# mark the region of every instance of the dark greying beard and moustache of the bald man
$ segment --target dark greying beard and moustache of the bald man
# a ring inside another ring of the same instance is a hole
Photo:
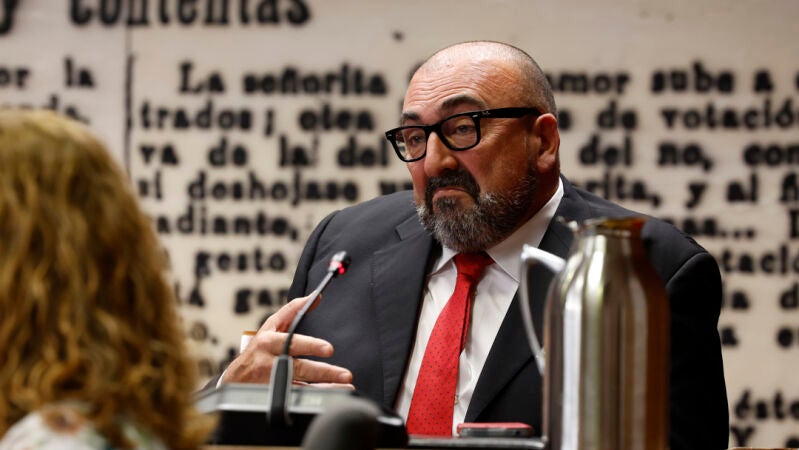
[[[424,204],[417,204],[416,212],[422,225],[443,245],[461,253],[484,251],[505,240],[527,218],[535,184],[535,166],[530,164],[511,191],[481,193],[472,175],[460,168],[430,178]],[[474,199],[474,206],[463,209],[457,199],[441,198],[433,212],[433,194],[447,186],[464,189]]]

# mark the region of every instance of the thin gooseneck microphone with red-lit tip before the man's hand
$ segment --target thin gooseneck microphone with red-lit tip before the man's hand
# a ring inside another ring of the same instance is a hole
[[[294,320],[291,321],[283,352],[277,357],[275,364],[272,366],[272,389],[270,390],[269,414],[267,418],[273,426],[291,426],[288,404],[294,378],[294,365],[292,364],[293,358],[289,356],[289,348],[291,347],[291,339],[294,337],[294,332],[305,317],[305,314],[319,301],[322,291],[325,290],[333,278],[343,275],[349,266],[350,257],[347,252],[340,251],[333,255],[330,259],[330,264],[328,264],[325,277],[316,286],[316,289],[311,291],[311,299],[303,305],[302,309],[294,316]]]

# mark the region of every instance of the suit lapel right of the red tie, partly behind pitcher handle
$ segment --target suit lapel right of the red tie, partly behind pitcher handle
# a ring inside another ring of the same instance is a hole
[[[582,220],[587,211],[581,205],[579,197],[573,195],[573,190],[566,180],[564,183],[564,196],[555,213],[555,217]],[[566,258],[573,241],[573,234],[569,228],[553,219],[541,240],[539,248],[554,255]],[[552,281],[553,274],[546,269],[532,266],[528,271],[530,280],[530,301],[533,313],[533,322],[538,334],[539,342],[542,341],[544,306]],[[493,401],[505,386],[513,381],[519,371],[527,364],[534,364],[532,351],[524,334],[524,328],[519,309],[519,296],[514,296],[513,302],[508,309],[505,319],[500,326],[499,332],[491,351],[488,354],[483,371],[477,381],[472,401],[466,413],[466,421],[475,421],[480,413]],[[541,385],[540,374],[537,370],[535,379],[528,380],[529,383]],[[531,408],[540,408],[541,405],[530,405]]]

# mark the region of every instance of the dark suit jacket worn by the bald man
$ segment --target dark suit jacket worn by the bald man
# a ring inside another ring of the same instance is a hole
[[[631,214],[563,182],[556,215],[584,220]],[[647,221],[642,237],[670,298],[671,448],[727,448],[718,266],[690,237],[665,222]],[[553,221],[540,247],[566,257],[572,239],[567,227]],[[393,408],[414,342],[427,266],[440,246],[420,225],[409,191],[335,212],[310,236],[289,298],[310,292],[340,250],[352,257],[349,272],[327,288],[299,332],[330,341],[335,355],[326,361],[350,369],[359,391]],[[536,277],[531,306],[541,330],[551,275],[542,271]],[[518,297],[480,374],[466,421],[521,421],[540,433],[541,377],[516,302]]]

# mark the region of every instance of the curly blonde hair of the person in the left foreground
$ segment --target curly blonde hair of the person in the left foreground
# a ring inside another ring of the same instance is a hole
[[[193,406],[166,257],[127,176],[81,124],[0,111],[0,436],[47,404],[88,405],[128,447],[120,419],[170,448],[212,426]]]

